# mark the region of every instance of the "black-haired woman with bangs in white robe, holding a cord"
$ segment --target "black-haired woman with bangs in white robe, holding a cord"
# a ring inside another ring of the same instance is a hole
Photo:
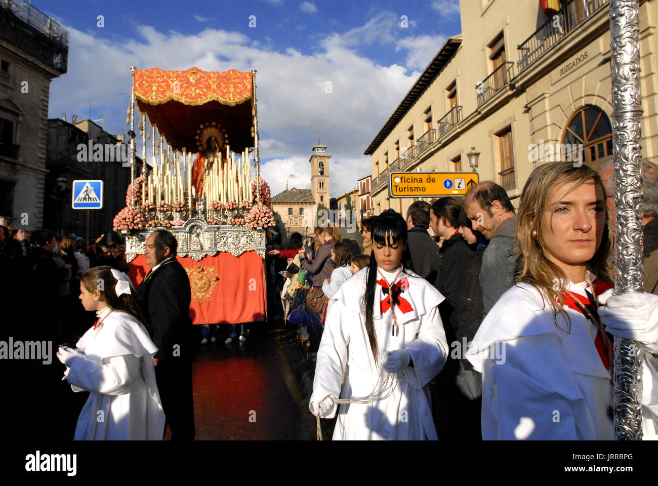
[[[333,418],[342,403],[334,440],[436,439],[427,384],[448,352],[443,296],[413,272],[401,215],[384,211],[372,241],[367,269],[332,298],[309,407]]]

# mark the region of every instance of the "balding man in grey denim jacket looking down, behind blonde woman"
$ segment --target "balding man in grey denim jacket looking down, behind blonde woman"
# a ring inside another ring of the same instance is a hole
[[[493,304],[514,284],[517,255],[517,214],[507,192],[487,180],[468,192],[464,204],[473,230],[490,240],[482,255],[480,286],[482,286],[483,317]]]

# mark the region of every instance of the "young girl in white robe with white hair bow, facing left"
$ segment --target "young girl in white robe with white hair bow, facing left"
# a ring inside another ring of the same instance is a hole
[[[57,353],[73,391],[89,392],[75,440],[162,440],[164,412],[153,367],[157,348],[128,277],[94,267],[84,273],[80,292],[85,310],[96,311],[98,320],[76,349],[60,346]]]

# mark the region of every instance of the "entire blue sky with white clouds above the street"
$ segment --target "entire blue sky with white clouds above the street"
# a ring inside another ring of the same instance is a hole
[[[131,65],[255,68],[261,173],[272,194],[286,180],[310,187],[319,136],[332,154],[331,196],[340,196],[370,172],[363,151],[445,38],[461,31],[458,0],[418,4],[34,0],[71,30],[68,72],[51,84],[49,117],[87,118],[84,103],[95,101],[92,119],[102,114],[105,129],[120,133],[126,104],[118,93],[130,93]]]

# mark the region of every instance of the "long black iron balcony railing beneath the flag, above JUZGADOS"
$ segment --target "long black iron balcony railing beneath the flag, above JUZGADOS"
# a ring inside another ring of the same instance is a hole
[[[556,14],[557,18],[555,16],[549,18],[532,36],[517,46],[519,74],[608,3],[609,0],[572,0],[567,3]]]

